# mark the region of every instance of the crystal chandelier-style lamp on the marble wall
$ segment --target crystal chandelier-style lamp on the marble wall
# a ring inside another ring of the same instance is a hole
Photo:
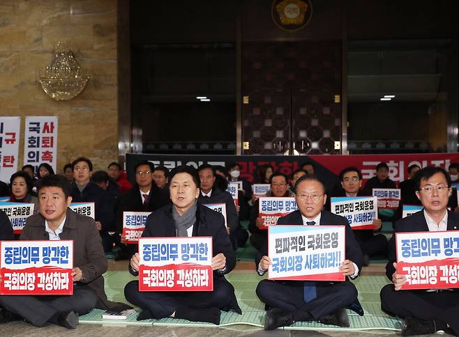
[[[51,64],[40,72],[40,84],[45,93],[53,100],[71,100],[83,91],[88,79],[70,47],[56,42]]]

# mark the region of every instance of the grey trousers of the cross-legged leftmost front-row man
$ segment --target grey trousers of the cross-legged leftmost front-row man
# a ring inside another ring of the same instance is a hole
[[[75,311],[80,315],[89,313],[96,307],[96,301],[96,292],[80,283],[73,286],[73,295],[0,296],[0,306],[37,327],[43,327],[59,312]]]

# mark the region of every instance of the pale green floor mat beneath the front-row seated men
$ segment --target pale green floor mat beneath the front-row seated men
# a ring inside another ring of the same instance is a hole
[[[107,296],[112,301],[123,301],[124,286],[129,281],[136,278],[131,276],[127,271],[112,271],[105,273],[105,291]],[[222,311],[220,326],[227,326],[233,324],[248,324],[255,327],[264,326],[264,304],[259,301],[255,294],[257,283],[262,279],[252,272],[234,271],[227,275],[228,281],[234,285],[236,297],[239,301],[239,306],[243,312],[239,315],[234,312]],[[379,300],[379,290],[388,283],[385,276],[360,276],[354,281],[357,289],[359,290],[359,300],[365,310],[364,316],[359,316],[353,311],[347,311],[349,315],[349,328],[340,328],[330,325],[324,325],[318,322],[296,322],[291,327],[284,329],[297,329],[297,330],[339,330],[339,331],[356,331],[356,330],[372,330],[372,329],[386,329],[399,331],[401,329],[401,320],[391,318],[381,311],[381,303]],[[137,309],[139,311],[139,309]],[[218,327],[217,325],[205,322],[190,322],[187,320],[179,320],[175,318],[163,318],[162,320],[143,320],[137,321],[137,315],[131,315],[126,320],[103,320],[103,310],[95,309],[87,315],[80,317],[80,323],[93,323],[93,324],[142,324],[153,326],[181,326],[181,327]]]

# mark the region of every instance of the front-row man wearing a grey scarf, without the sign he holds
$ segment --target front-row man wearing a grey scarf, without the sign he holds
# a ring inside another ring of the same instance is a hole
[[[234,288],[225,279],[236,258],[221,214],[197,203],[200,180],[191,166],[178,166],[170,175],[171,205],[149,215],[142,237],[212,237],[213,291],[211,292],[139,292],[139,281],[126,285],[124,294],[130,303],[143,309],[138,319],[183,318],[220,324],[220,309],[241,313]],[[185,222],[183,222],[185,221]],[[130,259],[130,272],[138,274],[139,253]]]

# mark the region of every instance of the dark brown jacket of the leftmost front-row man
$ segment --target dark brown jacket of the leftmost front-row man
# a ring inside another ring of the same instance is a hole
[[[84,281],[96,292],[96,308],[110,309],[118,304],[108,301],[104,290],[103,273],[107,271],[107,258],[95,221],[90,217],[67,209],[61,240],[73,240],[73,267],[82,269]],[[27,218],[20,240],[50,240],[45,230],[45,218],[40,213]]]

